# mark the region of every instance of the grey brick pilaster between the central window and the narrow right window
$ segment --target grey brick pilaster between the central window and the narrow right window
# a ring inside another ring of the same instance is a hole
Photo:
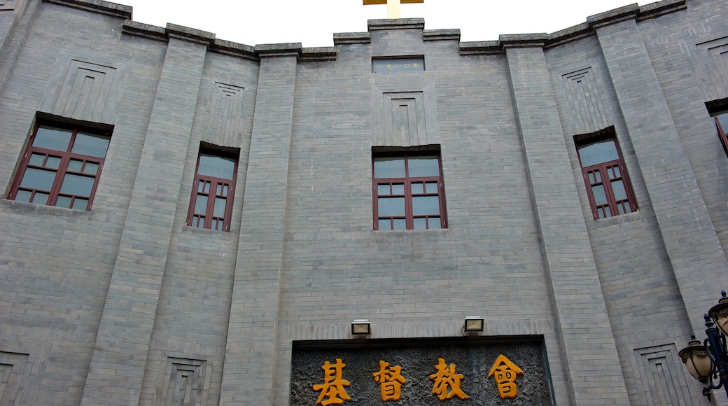
[[[574,405],[629,405],[542,47],[502,36]],[[596,376],[598,375],[598,378]]]

